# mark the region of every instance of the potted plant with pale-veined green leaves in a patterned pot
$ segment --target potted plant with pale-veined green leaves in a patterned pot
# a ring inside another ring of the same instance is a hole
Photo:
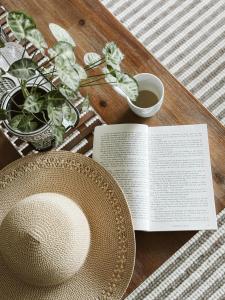
[[[10,76],[17,81],[16,88],[2,99],[0,118],[8,130],[36,149],[49,147],[53,140],[59,145],[65,131],[76,126],[79,120],[76,102],[82,101],[82,111],[89,105],[89,97],[81,96],[80,88],[111,84],[135,101],[137,83],[121,71],[124,55],[114,42],[106,43],[101,55],[86,53],[84,66],[81,66],[76,61],[74,40],[59,25],[49,24],[56,43],[48,48],[34,20],[25,13],[9,12],[7,22],[17,40],[25,46],[20,59],[9,64],[7,70],[0,69],[0,79]],[[27,42],[36,47],[32,56],[26,52]],[[37,64],[37,51],[48,57],[47,64]],[[100,71],[96,74],[96,70]],[[57,86],[51,83],[53,77],[59,78]]]

